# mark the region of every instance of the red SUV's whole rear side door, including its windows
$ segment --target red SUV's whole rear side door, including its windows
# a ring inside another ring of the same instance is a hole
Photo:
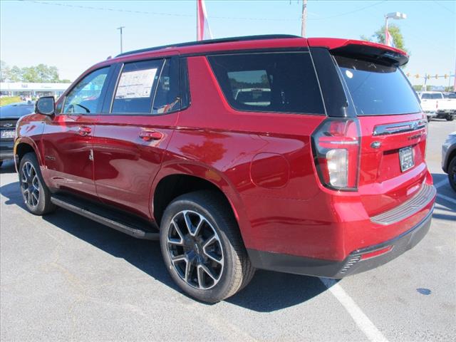
[[[179,58],[120,64],[93,140],[95,185],[107,204],[150,215],[150,189],[180,110]]]

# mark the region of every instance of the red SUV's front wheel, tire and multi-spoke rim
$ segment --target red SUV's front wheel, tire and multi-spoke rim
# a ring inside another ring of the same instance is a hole
[[[19,164],[19,187],[29,212],[35,215],[49,214],[56,210],[51,202],[51,192],[41,176],[41,170],[33,152],[22,157]]]

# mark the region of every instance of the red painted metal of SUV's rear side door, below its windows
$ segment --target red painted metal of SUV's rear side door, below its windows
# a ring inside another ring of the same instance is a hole
[[[103,202],[150,217],[150,185],[160,170],[178,116],[99,116],[93,159],[96,192]],[[143,140],[140,135],[145,132],[161,133],[162,138]]]

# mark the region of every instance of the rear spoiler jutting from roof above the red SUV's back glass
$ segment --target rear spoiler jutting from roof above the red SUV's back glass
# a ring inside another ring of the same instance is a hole
[[[403,66],[408,62],[405,51],[370,41],[356,41],[338,38],[309,38],[309,46],[324,47],[336,56],[366,59],[392,66]]]

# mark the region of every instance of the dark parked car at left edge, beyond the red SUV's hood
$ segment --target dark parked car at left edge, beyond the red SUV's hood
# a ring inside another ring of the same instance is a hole
[[[12,103],[0,107],[0,166],[4,160],[13,159],[14,132],[16,122],[24,115],[33,113],[35,103]]]

